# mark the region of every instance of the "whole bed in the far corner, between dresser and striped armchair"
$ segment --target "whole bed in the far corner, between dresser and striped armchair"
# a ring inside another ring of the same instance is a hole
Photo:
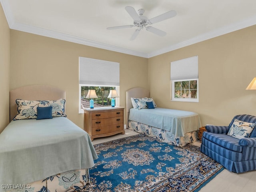
[[[179,147],[198,140],[201,121],[197,113],[159,107],[138,109],[131,102],[132,98],[145,100],[149,97],[149,90],[145,88],[136,87],[126,91],[128,129]]]

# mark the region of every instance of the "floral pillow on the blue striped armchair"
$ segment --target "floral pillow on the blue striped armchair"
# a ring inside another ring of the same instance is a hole
[[[255,123],[243,122],[235,118],[228,135],[238,139],[248,138],[255,125]]]

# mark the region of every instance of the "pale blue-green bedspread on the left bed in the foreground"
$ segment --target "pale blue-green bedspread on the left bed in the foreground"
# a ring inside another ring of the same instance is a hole
[[[0,134],[0,184],[92,168],[97,158],[89,135],[66,117],[12,121]]]

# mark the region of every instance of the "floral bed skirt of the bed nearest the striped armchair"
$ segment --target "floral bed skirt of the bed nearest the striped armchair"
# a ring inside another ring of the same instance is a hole
[[[188,132],[185,133],[184,137],[178,137],[166,130],[162,130],[131,120],[128,121],[128,129],[145,134],[146,136],[157,138],[162,142],[169,143],[178,147],[185,146],[186,144],[193,143],[198,140],[198,131]]]

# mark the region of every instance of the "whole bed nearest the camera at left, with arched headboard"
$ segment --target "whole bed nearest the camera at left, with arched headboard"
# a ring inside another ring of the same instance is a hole
[[[0,134],[0,192],[72,192],[90,182],[97,155],[89,135],[66,118],[65,98],[54,86],[10,90],[10,124]],[[48,106],[47,116],[37,106]]]

